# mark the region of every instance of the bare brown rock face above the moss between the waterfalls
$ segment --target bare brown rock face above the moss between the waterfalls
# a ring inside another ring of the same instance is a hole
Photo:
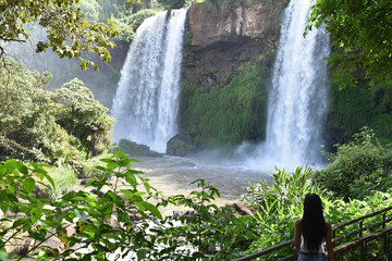
[[[233,1],[234,2],[234,1]],[[183,80],[208,90],[224,86],[241,64],[275,52],[289,0],[193,4],[188,10]]]

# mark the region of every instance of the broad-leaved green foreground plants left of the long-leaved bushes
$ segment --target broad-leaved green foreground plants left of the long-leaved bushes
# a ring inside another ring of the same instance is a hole
[[[7,231],[0,232],[1,254],[12,259],[108,260],[115,252],[123,258],[136,254],[137,260],[229,260],[257,237],[252,233],[255,224],[250,216],[233,219],[230,209],[211,203],[219,197],[219,190],[203,179],[194,182],[199,189],[189,197],[177,195],[161,200],[163,206],[171,202],[194,212],[163,220],[157,206],[146,201],[159,194],[139,175],[142,172],[131,169],[135,160],[118,151],[102,161],[106,166],[98,167],[101,172],[86,184],[86,189],[91,187],[96,194],[102,192],[101,197],[69,191],[57,201],[36,198],[33,194],[37,183],[57,186],[46,165],[27,165],[15,160],[0,164],[0,186],[7,187],[0,191],[0,209],[13,213],[1,220],[2,224],[9,224]],[[140,217],[134,221],[130,215]],[[76,232],[68,232],[70,226]],[[17,256],[7,250],[11,243],[23,237],[36,240],[26,253]],[[45,246],[51,238],[61,240],[61,252]],[[216,247],[215,251],[211,246]],[[81,249],[89,250],[82,254]]]

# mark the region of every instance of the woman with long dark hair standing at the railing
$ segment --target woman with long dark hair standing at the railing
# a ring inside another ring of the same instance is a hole
[[[331,224],[322,214],[320,197],[308,194],[304,201],[304,215],[295,222],[294,250],[299,250],[298,261],[327,261],[323,241],[329,260],[334,261],[331,231]]]

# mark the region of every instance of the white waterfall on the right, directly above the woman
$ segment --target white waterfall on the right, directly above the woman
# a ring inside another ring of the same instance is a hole
[[[284,13],[269,94],[266,141],[250,162],[259,167],[291,171],[298,165],[321,164],[321,132],[329,97],[323,59],[329,57],[330,42],[321,28],[303,36],[313,2],[292,0]]]

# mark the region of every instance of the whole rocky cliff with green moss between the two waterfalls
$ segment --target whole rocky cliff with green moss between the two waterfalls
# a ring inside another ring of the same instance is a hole
[[[168,148],[186,154],[264,139],[267,90],[289,1],[208,0],[189,8],[181,133]]]

